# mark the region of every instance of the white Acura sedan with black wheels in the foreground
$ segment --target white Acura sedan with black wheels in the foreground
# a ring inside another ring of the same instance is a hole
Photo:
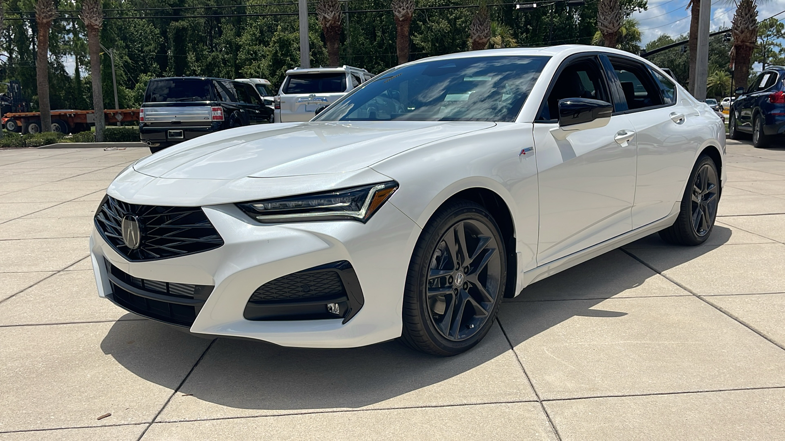
[[[139,160],[90,250],[101,297],[192,333],[455,355],[531,282],[704,242],[724,166],[720,118],[630,53],[456,53]]]

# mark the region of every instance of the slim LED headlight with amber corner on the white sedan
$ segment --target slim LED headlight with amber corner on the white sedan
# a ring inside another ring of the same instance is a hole
[[[368,219],[398,188],[395,181],[362,187],[238,203],[240,210],[264,224]]]

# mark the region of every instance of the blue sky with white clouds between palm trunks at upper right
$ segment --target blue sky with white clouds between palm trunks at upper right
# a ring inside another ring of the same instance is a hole
[[[641,29],[643,44],[654,40],[660,35],[667,34],[671,37],[689,31],[689,11],[686,9],[688,0],[648,0],[648,10],[633,13],[633,18],[638,20]],[[730,27],[736,6],[732,0],[713,0],[711,6],[711,31],[723,27]],[[758,20],[764,20],[785,10],[785,0],[771,0],[758,2]],[[785,13],[777,16],[785,19]]]

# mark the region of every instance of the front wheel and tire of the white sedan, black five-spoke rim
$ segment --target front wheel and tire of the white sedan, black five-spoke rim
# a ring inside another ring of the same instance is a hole
[[[409,264],[403,343],[441,356],[473,348],[493,326],[506,270],[504,240],[491,213],[465,200],[438,210]]]

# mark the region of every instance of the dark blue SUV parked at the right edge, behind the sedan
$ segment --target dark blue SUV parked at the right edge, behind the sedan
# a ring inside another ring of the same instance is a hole
[[[769,145],[772,137],[785,132],[785,67],[771,66],[755,78],[747,91],[736,89],[739,97],[731,104],[728,137],[737,140],[752,133],[757,148]]]

